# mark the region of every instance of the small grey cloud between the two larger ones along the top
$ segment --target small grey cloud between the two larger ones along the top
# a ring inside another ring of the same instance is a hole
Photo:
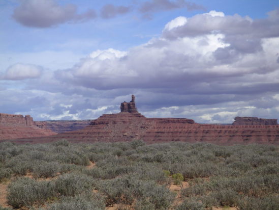
[[[131,11],[130,7],[125,6],[114,6],[111,4],[105,5],[101,10],[101,17],[108,19],[113,18],[117,15],[126,14]]]

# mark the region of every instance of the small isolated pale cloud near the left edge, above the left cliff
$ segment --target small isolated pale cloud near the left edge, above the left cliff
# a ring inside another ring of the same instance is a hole
[[[3,80],[25,80],[28,78],[38,78],[42,74],[40,66],[30,64],[15,64],[10,66],[4,76]]]

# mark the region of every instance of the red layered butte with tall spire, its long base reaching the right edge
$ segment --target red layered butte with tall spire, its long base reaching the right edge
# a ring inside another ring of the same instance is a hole
[[[146,118],[141,115],[132,97],[123,102],[120,113],[104,114],[83,129],[33,139],[36,142],[67,139],[72,142],[131,141],[148,143],[184,141],[216,144],[279,143],[279,125],[200,124],[185,118]]]

